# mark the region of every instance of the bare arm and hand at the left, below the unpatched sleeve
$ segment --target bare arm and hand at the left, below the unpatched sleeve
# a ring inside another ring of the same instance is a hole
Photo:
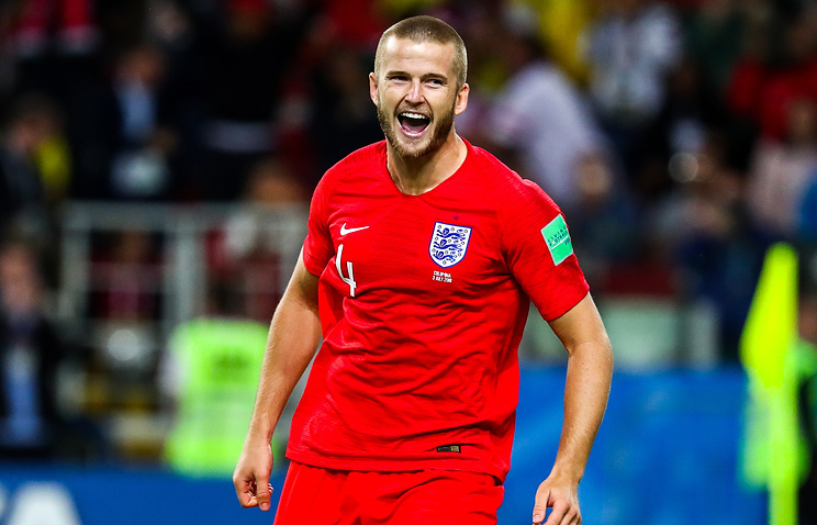
[[[272,315],[253,417],[233,473],[235,491],[244,507],[258,506],[262,511],[270,507],[272,431],[321,340],[317,281],[306,270],[301,254]]]

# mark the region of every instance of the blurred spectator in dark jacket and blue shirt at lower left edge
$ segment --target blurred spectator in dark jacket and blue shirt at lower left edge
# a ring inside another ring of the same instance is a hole
[[[55,458],[66,438],[57,373],[66,346],[45,316],[41,260],[32,245],[0,247],[0,458]]]

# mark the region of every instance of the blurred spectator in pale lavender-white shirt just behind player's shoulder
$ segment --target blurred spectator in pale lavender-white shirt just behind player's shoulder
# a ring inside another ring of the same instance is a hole
[[[580,167],[609,164],[604,135],[581,92],[547,58],[535,13],[516,7],[506,16],[499,42],[511,78],[493,104],[485,133],[499,156],[523,177],[566,212],[579,211]]]

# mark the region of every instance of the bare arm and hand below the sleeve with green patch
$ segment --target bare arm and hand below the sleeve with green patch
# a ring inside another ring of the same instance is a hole
[[[613,349],[590,293],[567,313],[549,322],[568,350],[564,421],[553,468],[536,492],[534,523],[578,525],[579,481],[604,417],[613,376]]]

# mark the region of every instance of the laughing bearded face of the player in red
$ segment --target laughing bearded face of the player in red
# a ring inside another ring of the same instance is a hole
[[[468,85],[458,90],[451,70],[454,45],[396,37],[383,45],[381,70],[369,75],[380,127],[398,155],[424,157],[443,146],[468,103]]]

